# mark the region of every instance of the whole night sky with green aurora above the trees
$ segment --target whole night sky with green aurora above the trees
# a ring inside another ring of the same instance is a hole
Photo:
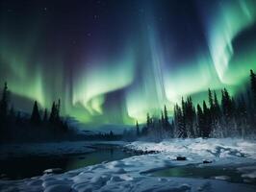
[[[86,123],[134,124],[256,69],[255,0],[1,0],[0,84]]]

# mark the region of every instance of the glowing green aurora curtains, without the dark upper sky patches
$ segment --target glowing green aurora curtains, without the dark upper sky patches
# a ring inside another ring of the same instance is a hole
[[[115,56],[95,48],[97,51],[83,57],[83,49],[79,49],[79,60],[69,60],[77,55],[65,48],[53,47],[54,52],[47,52],[59,41],[42,43],[47,23],[40,17],[29,22],[37,24],[25,26],[26,30],[17,34],[15,27],[21,24],[13,27],[9,20],[15,18],[2,13],[0,83],[7,81],[14,95],[37,100],[41,108],[50,108],[61,98],[63,114],[85,123],[134,124],[135,120],[144,122],[147,112],[158,114],[164,105],[171,114],[182,96],[193,95],[198,102],[208,87],[227,87],[235,94],[249,69],[256,69],[256,36],[247,36],[256,25],[255,1],[219,1],[204,6],[200,15],[207,46],[195,48],[192,56],[178,61],[175,43],[166,46],[158,24],[151,19],[152,10],[136,22],[140,26],[137,31],[127,32],[132,35],[124,36],[127,39]],[[240,43],[244,36],[246,40]]]

